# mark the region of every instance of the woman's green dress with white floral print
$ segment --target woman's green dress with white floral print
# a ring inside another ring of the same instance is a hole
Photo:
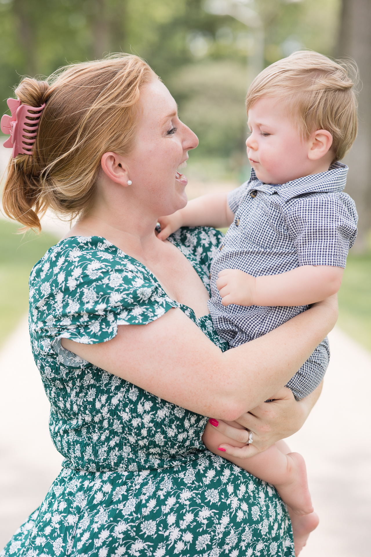
[[[207,288],[220,238],[211,228],[170,237]],[[66,460],[0,555],[293,557],[285,505],[272,486],[205,449],[205,416],[61,346],[61,338],[101,343],[117,325],[150,323],[180,307],[225,350],[210,316],[196,319],[144,265],[101,237],[50,248],[29,286],[33,354],[51,403],[51,436]]]

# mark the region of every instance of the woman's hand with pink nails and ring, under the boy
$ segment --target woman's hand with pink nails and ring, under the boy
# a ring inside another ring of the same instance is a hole
[[[268,449],[279,439],[290,437],[299,431],[318,400],[321,390],[322,383],[308,397],[297,402],[291,390],[284,387],[276,393],[271,402],[259,404],[235,422],[211,418],[202,440],[212,452],[228,460],[229,457],[234,459],[254,456]],[[253,443],[250,445],[246,444],[249,441],[247,430],[253,433]],[[218,437],[214,432],[218,433]]]

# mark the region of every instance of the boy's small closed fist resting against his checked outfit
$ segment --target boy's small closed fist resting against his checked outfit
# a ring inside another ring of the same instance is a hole
[[[239,269],[224,269],[217,276],[216,287],[222,297],[222,305],[254,305],[255,278]]]

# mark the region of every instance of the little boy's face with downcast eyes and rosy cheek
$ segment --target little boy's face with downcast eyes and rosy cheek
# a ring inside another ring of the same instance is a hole
[[[309,142],[301,138],[282,99],[262,97],[248,116],[247,153],[261,182],[285,184],[318,172],[308,157]]]

